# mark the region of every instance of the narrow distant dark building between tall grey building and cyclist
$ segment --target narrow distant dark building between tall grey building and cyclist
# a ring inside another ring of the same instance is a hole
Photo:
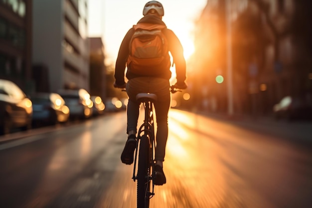
[[[106,98],[105,53],[101,37],[89,37],[90,41],[90,94]]]

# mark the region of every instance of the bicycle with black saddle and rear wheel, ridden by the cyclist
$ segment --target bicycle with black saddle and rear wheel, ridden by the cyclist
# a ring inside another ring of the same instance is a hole
[[[178,92],[170,87],[171,93]],[[137,182],[137,208],[149,208],[150,199],[155,196],[154,192],[154,161],[155,161],[155,128],[154,128],[154,102],[156,94],[139,93],[136,99],[143,103],[145,118],[138,131],[137,147],[135,152],[133,177]],[[139,153],[139,154],[138,154]],[[138,161],[138,167],[137,167]]]

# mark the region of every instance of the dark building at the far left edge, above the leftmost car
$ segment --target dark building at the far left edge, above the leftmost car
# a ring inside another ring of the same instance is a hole
[[[33,91],[31,70],[32,0],[0,0],[0,78]]]

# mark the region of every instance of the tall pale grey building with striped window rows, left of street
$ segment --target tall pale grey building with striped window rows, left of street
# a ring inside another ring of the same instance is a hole
[[[89,90],[88,0],[33,0],[32,10],[32,62],[49,82],[36,90]]]

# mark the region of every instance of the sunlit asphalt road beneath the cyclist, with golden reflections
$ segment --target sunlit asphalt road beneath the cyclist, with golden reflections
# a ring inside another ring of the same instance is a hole
[[[168,123],[167,184],[151,208],[311,208],[310,124],[173,109]],[[0,207],[135,208],[125,129],[119,112],[0,137]]]

